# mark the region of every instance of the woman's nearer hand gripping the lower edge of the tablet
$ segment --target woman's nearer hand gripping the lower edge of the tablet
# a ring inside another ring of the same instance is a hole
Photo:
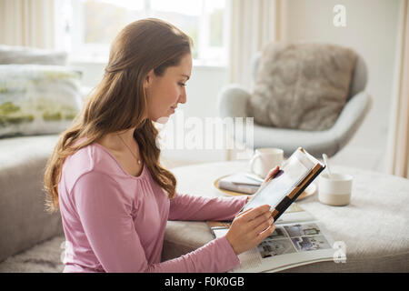
[[[235,216],[225,236],[236,255],[258,246],[265,237],[273,234],[275,226],[271,214],[270,206],[264,205]]]

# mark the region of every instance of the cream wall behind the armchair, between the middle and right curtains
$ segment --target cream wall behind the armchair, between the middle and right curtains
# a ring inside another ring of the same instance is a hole
[[[346,26],[333,25],[344,5]],[[373,107],[334,161],[381,170],[389,122],[400,0],[285,0],[282,35],[288,41],[328,42],[353,48],[368,66],[366,90]]]

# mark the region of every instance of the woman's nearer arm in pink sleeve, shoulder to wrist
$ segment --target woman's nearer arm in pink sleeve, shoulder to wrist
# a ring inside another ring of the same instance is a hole
[[[106,272],[225,272],[240,263],[224,236],[185,256],[149,265],[130,202],[113,178],[87,173],[78,179],[72,195],[86,239]]]

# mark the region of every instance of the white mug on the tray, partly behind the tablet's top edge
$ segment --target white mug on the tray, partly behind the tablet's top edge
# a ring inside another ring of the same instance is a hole
[[[281,166],[284,160],[284,151],[281,148],[257,148],[250,160],[250,171],[255,175],[265,178],[275,166]]]

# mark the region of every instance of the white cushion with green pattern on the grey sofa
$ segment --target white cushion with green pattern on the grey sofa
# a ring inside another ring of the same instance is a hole
[[[0,137],[58,134],[82,106],[80,73],[58,65],[0,65]]]

